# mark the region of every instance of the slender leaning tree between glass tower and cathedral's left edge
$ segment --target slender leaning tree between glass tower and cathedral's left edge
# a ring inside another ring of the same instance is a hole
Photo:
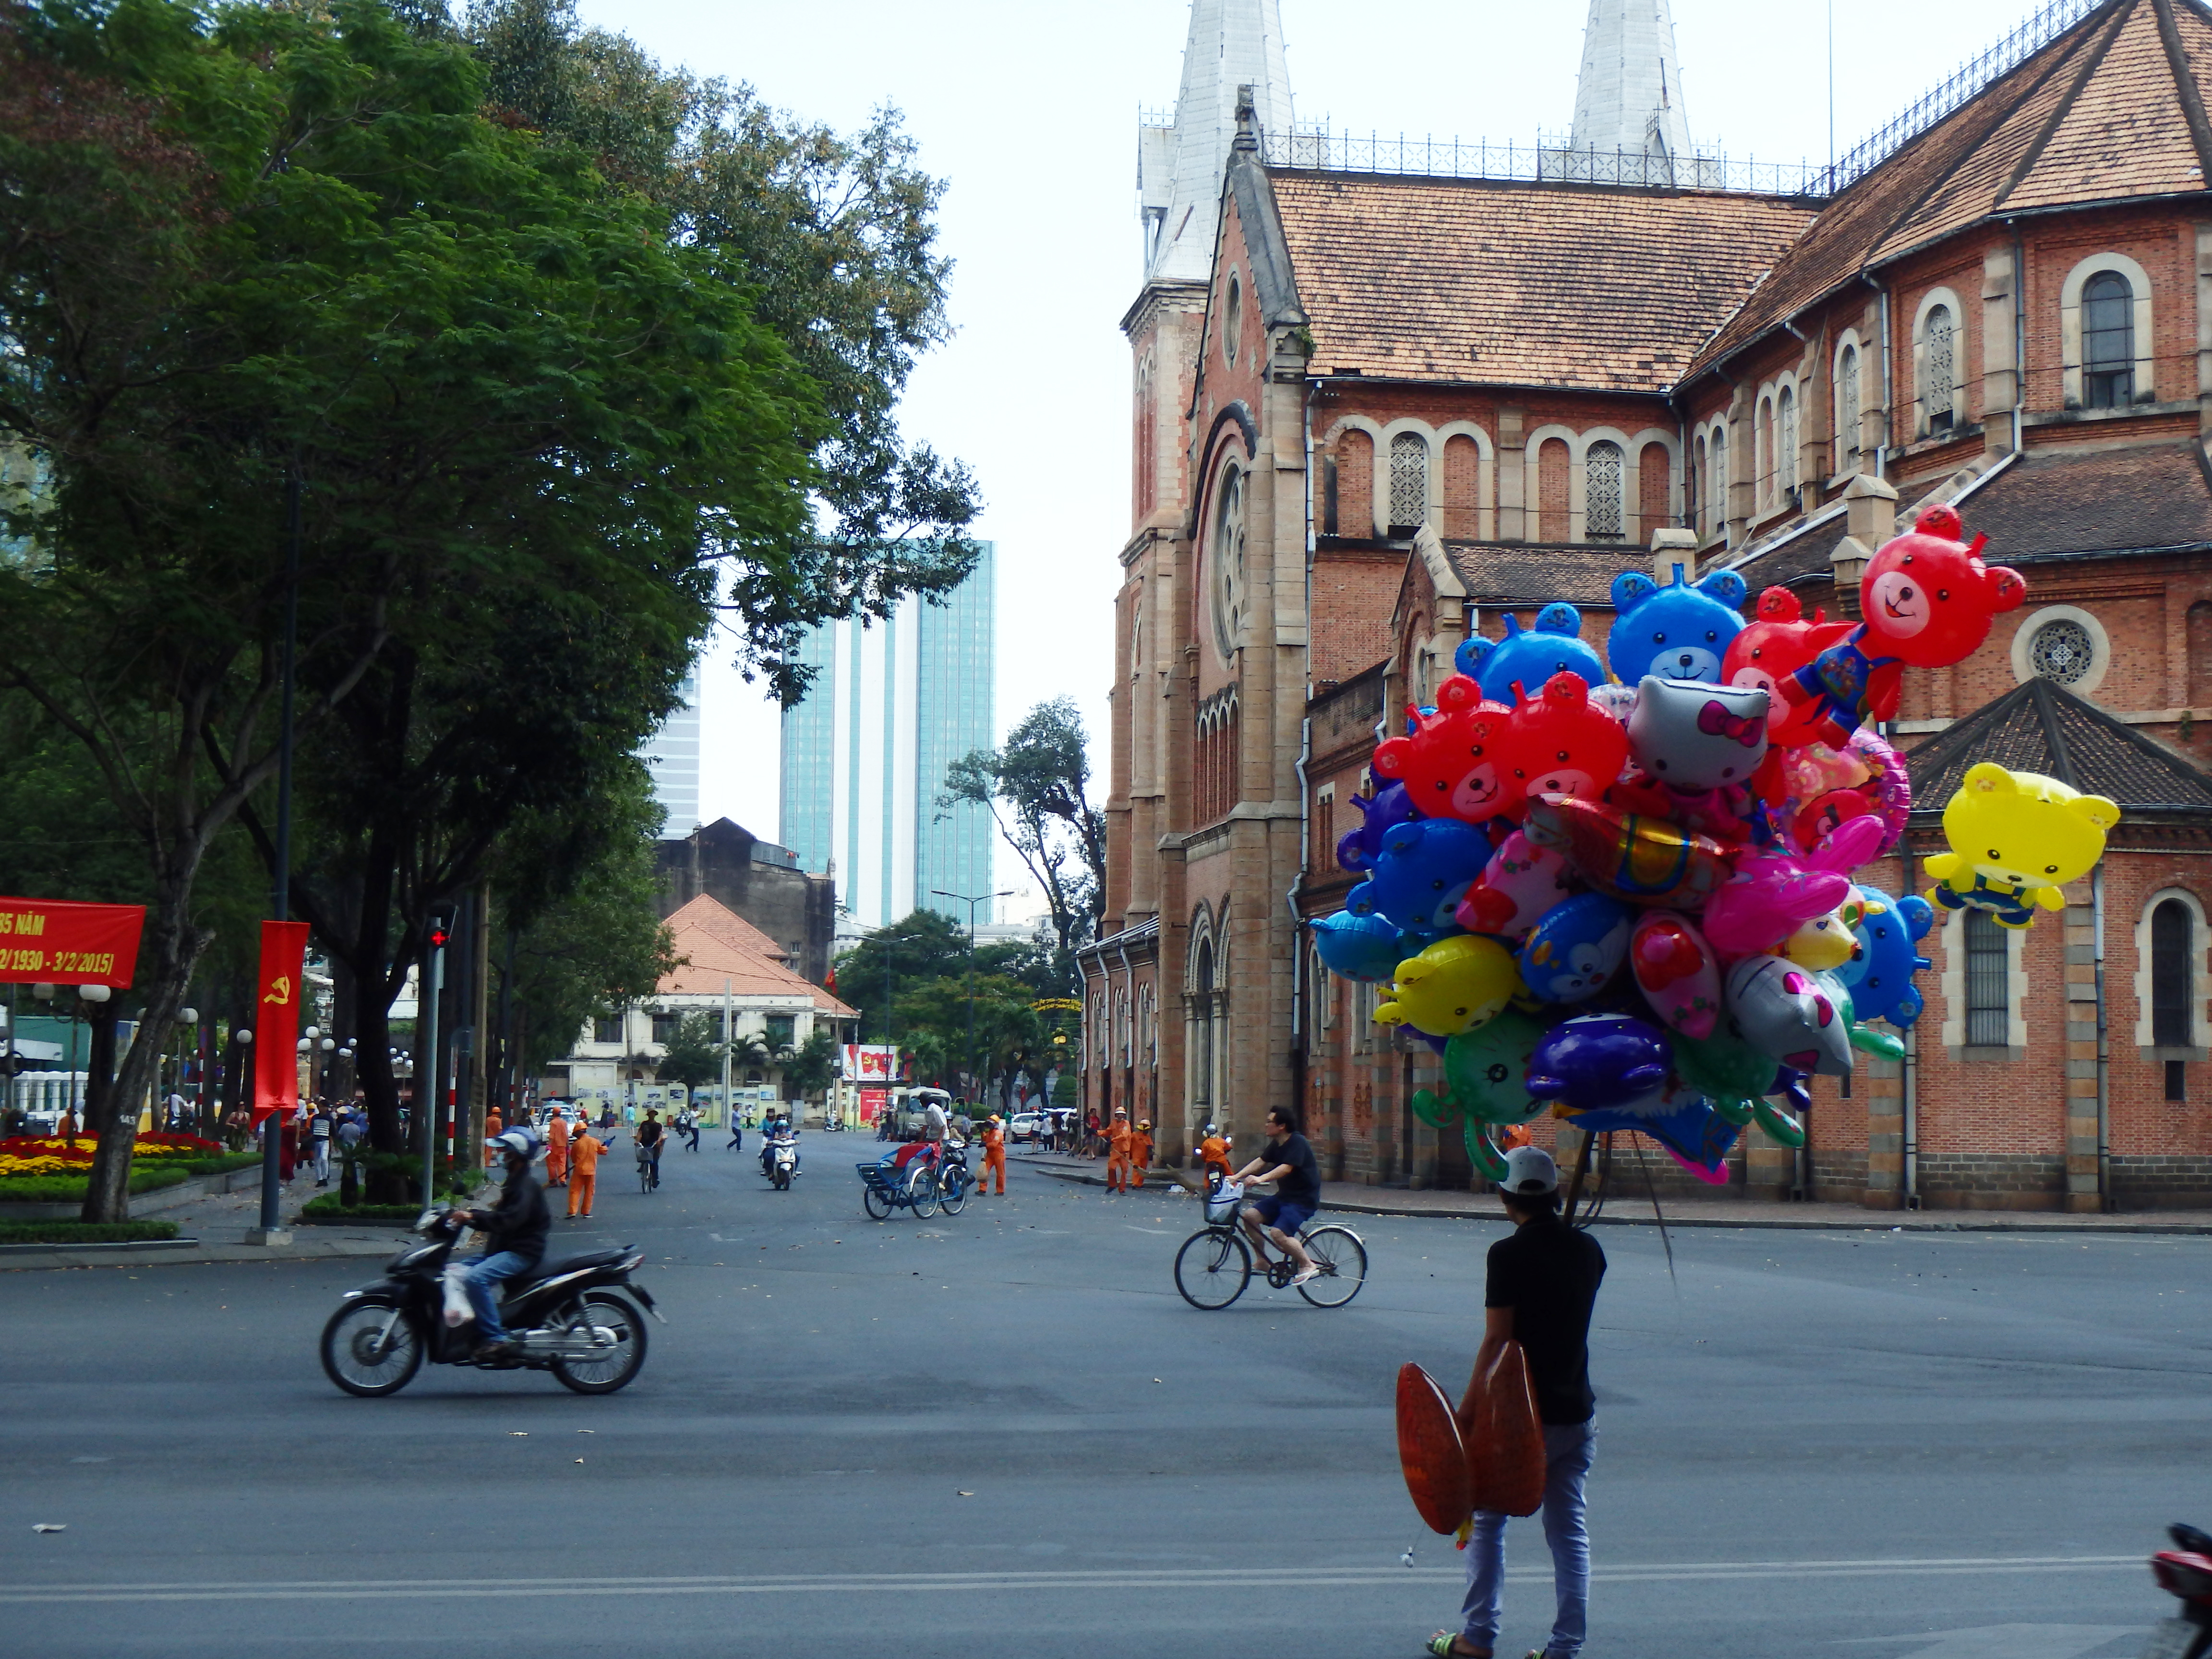
[[[1075,982],[1075,951],[1106,914],[1106,814],[1091,805],[1091,739],[1073,697],[1037,703],[1002,750],[945,768],[938,807],[991,810],[1000,836],[1044,889],[1057,936],[1055,995]]]

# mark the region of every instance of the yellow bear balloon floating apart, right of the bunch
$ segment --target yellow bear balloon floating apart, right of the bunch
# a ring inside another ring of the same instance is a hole
[[[2035,905],[2064,909],[2059,887],[2104,858],[2104,836],[2115,823],[2119,807],[2101,794],[1982,761],[1942,810],[1951,852],[1929,858],[1938,878],[1929,902],[1986,909],[2000,927],[2028,927]]]

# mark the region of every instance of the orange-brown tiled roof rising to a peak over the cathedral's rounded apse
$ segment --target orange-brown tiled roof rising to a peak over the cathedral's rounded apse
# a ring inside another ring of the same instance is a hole
[[[2197,0],[2108,0],[1829,201],[1692,372],[1978,219],[2203,190],[2208,88],[2212,18]]]

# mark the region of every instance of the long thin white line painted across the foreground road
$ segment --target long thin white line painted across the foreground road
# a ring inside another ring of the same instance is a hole
[[[1869,1559],[1869,1562],[1648,1562],[1595,1566],[1599,1584],[1712,1584],[1728,1579],[1843,1579],[1843,1577],[1944,1577],[1984,1573],[2139,1573],[2135,1555],[1991,1555],[1947,1559]],[[1433,1584],[1464,1577],[1460,1566],[1254,1566],[1254,1568],[1164,1568],[1146,1571],[1152,1590],[1237,1590],[1252,1586],[1371,1586]],[[1548,1584],[1551,1568],[1509,1571],[1509,1579]],[[0,1606],[40,1601],[307,1601],[330,1595],[422,1601],[460,1597],[524,1595],[911,1595],[918,1590],[1095,1590],[1126,1584],[1126,1571],[1113,1573],[812,1573],[772,1577],[588,1577],[588,1579],[285,1579],[272,1584],[9,1584],[0,1586]],[[1896,1637],[1909,1641],[1911,1637]]]

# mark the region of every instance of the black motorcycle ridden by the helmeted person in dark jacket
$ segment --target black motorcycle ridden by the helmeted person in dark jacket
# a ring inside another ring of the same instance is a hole
[[[465,1228],[440,1206],[425,1210],[414,1230],[425,1243],[396,1254],[374,1285],[345,1292],[323,1325],[323,1374],[347,1394],[398,1394],[425,1358],[480,1371],[553,1371],[577,1394],[613,1394],[646,1363],[646,1321],[630,1298],[668,1323],[653,1292],[630,1283],[646,1261],[641,1250],[586,1250],[500,1285],[500,1323],[513,1352],[478,1360],[476,1318],[451,1259]]]

